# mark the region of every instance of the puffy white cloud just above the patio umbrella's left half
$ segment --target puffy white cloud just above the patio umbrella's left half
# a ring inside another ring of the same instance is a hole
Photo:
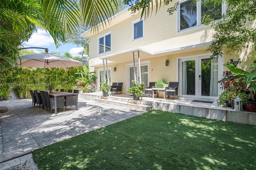
[[[28,42],[24,42],[26,46],[33,47],[44,47],[54,44],[54,40],[50,34],[47,34],[46,31],[38,29],[36,33],[34,33]]]

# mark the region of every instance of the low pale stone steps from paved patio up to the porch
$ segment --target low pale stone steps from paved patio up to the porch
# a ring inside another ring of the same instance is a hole
[[[133,99],[122,97],[122,99],[117,99],[118,97],[106,97],[104,98],[93,98],[96,102],[102,102],[107,103],[109,105],[116,105],[116,106],[122,106],[127,107],[131,109],[136,110],[142,110],[142,111],[152,111],[153,106],[152,105],[145,105],[143,101],[134,101]]]

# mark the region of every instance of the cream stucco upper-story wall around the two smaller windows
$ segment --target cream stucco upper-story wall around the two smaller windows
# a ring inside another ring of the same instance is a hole
[[[173,3],[174,2],[172,2],[170,6],[172,6]],[[127,15],[130,15],[130,12],[127,12]],[[136,47],[141,47],[152,53],[185,47],[188,45],[210,42],[212,35],[210,26],[200,26],[187,31],[177,32],[176,12],[174,12],[173,15],[169,15],[167,7],[165,7],[158,10],[156,15],[152,14],[152,16],[145,20],[144,38],[132,41],[132,22],[139,19],[140,14],[130,16],[119,24],[89,37],[90,59]],[[115,20],[115,18],[113,18],[113,20]],[[109,33],[111,33],[111,51],[98,55],[98,38]],[[99,61],[91,61],[91,64],[94,65],[96,62]]]

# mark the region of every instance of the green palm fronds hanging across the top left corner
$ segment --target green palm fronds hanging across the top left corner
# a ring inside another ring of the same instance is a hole
[[[65,32],[110,22],[116,0],[0,0],[0,61],[13,62],[19,46],[37,29],[50,33],[56,47],[65,42]]]

